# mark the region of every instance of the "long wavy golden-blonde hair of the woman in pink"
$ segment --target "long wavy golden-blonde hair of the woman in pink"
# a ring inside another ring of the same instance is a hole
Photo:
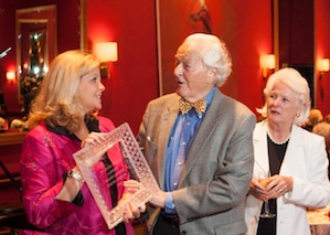
[[[32,102],[29,128],[44,120],[46,125],[78,130],[84,118],[76,99],[81,78],[99,66],[99,61],[82,51],[67,51],[57,55],[41,83],[38,96]]]

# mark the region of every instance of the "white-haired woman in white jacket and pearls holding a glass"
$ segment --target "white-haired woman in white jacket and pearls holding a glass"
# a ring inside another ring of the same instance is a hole
[[[324,139],[300,127],[309,115],[306,79],[294,68],[273,74],[264,89],[266,119],[254,130],[254,179],[246,197],[248,234],[310,234],[306,210],[323,207],[330,200]],[[256,180],[270,172],[265,188]],[[259,217],[269,200],[270,218]]]

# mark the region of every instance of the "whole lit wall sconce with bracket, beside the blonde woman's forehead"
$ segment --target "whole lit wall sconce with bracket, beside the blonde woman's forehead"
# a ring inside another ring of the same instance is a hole
[[[118,61],[117,42],[100,42],[95,44],[95,54],[100,61],[100,77],[110,77],[109,62]]]

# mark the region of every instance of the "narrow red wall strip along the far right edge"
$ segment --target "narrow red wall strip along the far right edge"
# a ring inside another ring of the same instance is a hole
[[[315,1],[316,9],[316,63],[320,58],[330,57],[330,1]],[[323,116],[330,114],[330,72],[323,74],[319,79],[319,71],[316,68],[317,107]]]

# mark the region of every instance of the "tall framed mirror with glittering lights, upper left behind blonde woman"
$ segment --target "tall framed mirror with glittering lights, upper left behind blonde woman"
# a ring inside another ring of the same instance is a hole
[[[19,9],[17,23],[17,67],[19,100],[38,88],[56,50],[56,6]]]

